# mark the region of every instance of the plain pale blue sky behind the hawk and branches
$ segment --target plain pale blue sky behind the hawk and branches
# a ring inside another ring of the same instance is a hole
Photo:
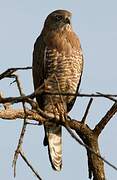
[[[85,59],[80,92],[117,94],[117,1],[116,0],[0,0],[0,73],[10,67],[31,66],[35,39],[40,34],[46,16],[55,9],[72,12],[74,31],[79,35]],[[32,75],[19,72],[26,94],[33,91]],[[6,96],[18,92],[12,80],[0,82],[0,90]],[[88,98],[78,98],[70,113],[81,119]],[[106,113],[112,102],[104,98],[94,100],[87,123],[94,127]],[[0,179],[13,180],[11,167],[22,122],[0,121]],[[99,138],[101,154],[117,166],[117,116],[108,123]],[[44,180],[80,179],[88,180],[87,156],[63,130],[63,170],[51,169],[47,149],[43,147],[43,127],[28,126],[23,150]],[[105,165],[106,178],[114,180],[117,172]],[[21,158],[17,161],[16,180],[35,180]]]

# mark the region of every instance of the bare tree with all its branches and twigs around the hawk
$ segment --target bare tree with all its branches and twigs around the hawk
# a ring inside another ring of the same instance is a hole
[[[88,168],[89,168],[89,178],[93,178],[93,180],[105,180],[105,172],[104,172],[104,162],[107,163],[109,166],[114,168],[117,171],[117,167],[115,167],[113,164],[111,164],[109,161],[104,159],[99,150],[99,144],[98,144],[98,137],[100,133],[103,131],[103,129],[106,127],[107,123],[110,121],[110,119],[115,115],[117,112],[117,94],[102,94],[102,93],[94,93],[94,94],[75,94],[75,93],[63,93],[59,89],[58,92],[49,92],[45,90],[45,84],[43,84],[41,87],[37,88],[35,92],[24,95],[20,81],[18,80],[18,76],[16,76],[14,73],[18,70],[28,70],[31,69],[31,67],[23,67],[23,68],[10,68],[0,74],[0,80],[4,78],[15,78],[15,81],[17,83],[17,87],[19,89],[20,96],[19,97],[6,97],[4,98],[0,94],[0,103],[3,105],[5,109],[0,110],[0,118],[2,119],[8,119],[8,120],[16,120],[17,118],[20,118],[24,120],[23,128],[21,131],[21,135],[19,138],[18,146],[15,151],[14,155],[14,175],[16,175],[16,162],[18,155],[20,154],[23,160],[26,162],[26,164],[31,168],[31,170],[35,173],[38,179],[41,179],[38,173],[34,170],[32,165],[29,163],[27,158],[25,157],[24,153],[22,152],[22,143],[24,134],[26,131],[26,126],[28,124],[32,125],[40,125],[40,124],[46,124],[52,121],[53,123],[58,123],[59,125],[64,126],[67,131],[70,133],[70,135],[83,147],[86,148],[87,151],[87,157],[88,157]],[[57,79],[56,79],[57,80]],[[59,84],[58,84],[59,87]],[[42,111],[38,104],[33,100],[36,96],[40,96],[41,94],[48,94],[48,95],[60,95],[61,103],[63,101],[62,96],[79,96],[79,97],[91,97],[90,101],[87,105],[87,108],[85,110],[85,113],[83,115],[83,118],[81,121],[76,120],[69,120],[67,114],[65,117],[60,118],[54,116],[54,113],[47,114],[46,112]],[[99,123],[95,126],[95,128],[92,130],[88,125],[86,124],[86,118],[89,113],[89,109],[92,104],[92,97],[104,97],[108,98],[109,100],[114,101],[114,104],[112,107],[107,111],[105,116],[99,121]],[[13,109],[14,103],[22,102],[22,109]],[[30,105],[30,108],[26,108],[26,103]],[[28,120],[35,120],[38,123],[30,123]],[[76,133],[75,133],[75,132]],[[78,136],[82,139],[80,140]]]

